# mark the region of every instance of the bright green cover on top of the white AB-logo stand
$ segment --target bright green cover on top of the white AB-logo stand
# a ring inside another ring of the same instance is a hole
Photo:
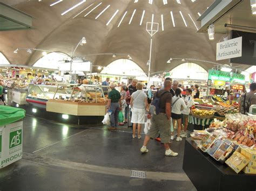
[[[25,110],[0,105],[0,126],[19,121],[25,117]]]

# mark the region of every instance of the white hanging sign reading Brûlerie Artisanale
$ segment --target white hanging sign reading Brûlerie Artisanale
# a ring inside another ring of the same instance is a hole
[[[216,60],[237,58],[242,56],[242,37],[217,43]]]

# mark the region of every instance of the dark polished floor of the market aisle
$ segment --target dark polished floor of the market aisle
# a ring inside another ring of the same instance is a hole
[[[124,126],[78,128],[26,116],[23,159],[0,169],[0,190],[196,190],[182,169],[185,140],[171,144],[178,157],[165,157],[156,140],[141,154],[143,138],[132,139]]]

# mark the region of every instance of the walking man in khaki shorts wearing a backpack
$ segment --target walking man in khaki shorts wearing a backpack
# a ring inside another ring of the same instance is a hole
[[[161,142],[164,143],[165,146],[165,155],[176,157],[178,153],[173,152],[170,149],[170,122],[171,122],[171,103],[172,103],[172,94],[169,93],[172,87],[172,83],[170,80],[165,80],[164,82],[164,90],[159,90],[156,97],[159,97],[159,109],[160,113],[158,115],[147,115],[148,118],[151,118],[151,127],[147,132],[142,148],[140,148],[140,152],[146,153],[149,152],[147,149],[147,144],[149,143],[151,138],[155,138],[160,131]],[[166,93],[167,91],[167,93]]]

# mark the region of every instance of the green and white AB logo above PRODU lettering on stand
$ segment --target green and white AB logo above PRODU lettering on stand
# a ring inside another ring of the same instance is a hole
[[[13,128],[10,130],[10,151],[9,153],[14,153],[22,149],[22,129],[21,126]]]

